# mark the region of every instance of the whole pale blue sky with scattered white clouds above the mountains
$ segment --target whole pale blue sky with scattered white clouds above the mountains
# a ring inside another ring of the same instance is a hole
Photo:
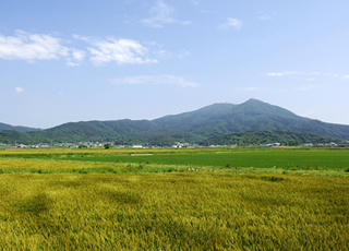
[[[256,98],[349,124],[349,1],[1,0],[0,122],[155,119]]]

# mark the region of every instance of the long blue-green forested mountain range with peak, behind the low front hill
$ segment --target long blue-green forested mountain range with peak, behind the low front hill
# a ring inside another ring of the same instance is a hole
[[[155,120],[70,122],[51,129],[13,134],[0,131],[0,142],[116,141],[118,144],[200,143],[216,136],[246,131],[284,131],[349,139],[349,125],[303,118],[278,106],[256,99],[240,105],[214,104],[195,111]],[[17,138],[17,139],[14,139]]]

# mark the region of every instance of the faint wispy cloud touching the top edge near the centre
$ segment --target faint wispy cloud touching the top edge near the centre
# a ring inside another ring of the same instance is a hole
[[[149,19],[142,20],[142,23],[149,27],[163,27],[164,24],[180,23],[188,25],[190,21],[178,21],[174,19],[174,8],[158,0],[149,11]]]

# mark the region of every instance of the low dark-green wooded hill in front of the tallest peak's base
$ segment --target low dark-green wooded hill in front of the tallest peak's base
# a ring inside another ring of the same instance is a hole
[[[248,131],[231,133],[224,136],[215,136],[204,141],[204,145],[245,145],[245,144],[269,144],[281,143],[285,145],[297,145],[305,143],[329,143],[340,142],[341,139],[321,136],[311,133],[294,133],[282,131]]]

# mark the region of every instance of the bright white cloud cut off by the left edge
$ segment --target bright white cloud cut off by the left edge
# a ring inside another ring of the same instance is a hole
[[[0,35],[0,58],[27,61],[51,60],[69,57],[69,48],[59,38],[45,34],[29,34],[16,31],[15,36]]]

